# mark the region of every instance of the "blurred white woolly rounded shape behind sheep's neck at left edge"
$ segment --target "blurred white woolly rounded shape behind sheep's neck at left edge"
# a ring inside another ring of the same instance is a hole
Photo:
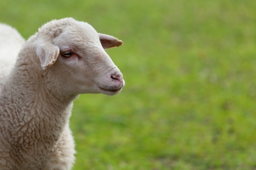
[[[8,76],[8,73],[11,71],[12,66],[15,63],[16,56],[25,43],[24,38],[18,33],[16,29],[13,29],[7,24],[0,23],[0,51],[2,56],[0,57],[0,91],[3,79]]]

